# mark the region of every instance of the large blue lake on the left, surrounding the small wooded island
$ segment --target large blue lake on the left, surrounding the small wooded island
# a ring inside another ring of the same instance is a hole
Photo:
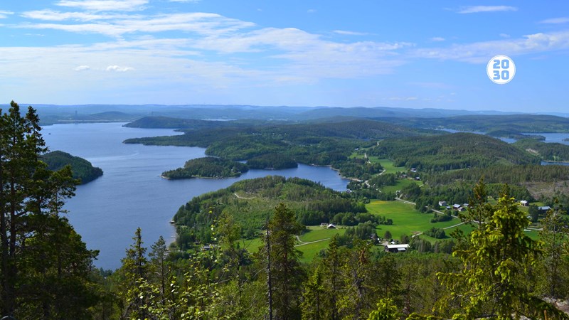
[[[160,178],[166,170],[184,166],[189,159],[205,156],[205,149],[184,146],[123,144],[125,139],[179,134],[171,129],[137,129],[123,123],[55,124],[43,127],[51,151],[80,156],[100,167],[104,175],[78,186],[75,197],[65,204],[68,218],[87,247],[100,250],[96,267],[115,270],[132,244],[137,227],[142,228],[145,247],[162,235],[174,240],[169,221],[176,210],[202,193],[227,188],[235,181],[267,175],[298,176],[345,191],[348,180],[328,168],[299,164],[296,169],[250,170],[239,178]]]

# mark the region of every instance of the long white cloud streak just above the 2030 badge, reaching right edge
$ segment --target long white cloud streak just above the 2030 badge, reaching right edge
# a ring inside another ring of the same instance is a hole
[[[421,48],[411,55],[420,58],[487,63],[494,55],[522,55],[569,48],[569,31],[534,33],[517,39],[484,41],[453,45],[447,48]]]

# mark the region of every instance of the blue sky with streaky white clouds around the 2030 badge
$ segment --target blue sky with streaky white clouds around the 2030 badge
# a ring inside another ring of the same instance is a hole
[[[2,104],[568,112],[568,72],[569,1],[0,1]]]

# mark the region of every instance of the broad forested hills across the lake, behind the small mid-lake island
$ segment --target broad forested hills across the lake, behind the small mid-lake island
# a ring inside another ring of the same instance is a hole
[[[446,133],[358,119],[333,123],[198,129],[178,136],[127,139],[125,143],[201,146],[207,148],[206,154],[209,156],[230,160],[251,160],[265,156],[262,158],[265,168],[282,166],[280,163],[270,163],[270,159],[279,158],[287,159],[287,163],[296,161],[329,165],[339,169],[344,176],[366,180],[381,172],[381,166],[351,159],[354,150],[372,146],[380,139],[427,134]],[[267,157],[267,154],[272,156]]]

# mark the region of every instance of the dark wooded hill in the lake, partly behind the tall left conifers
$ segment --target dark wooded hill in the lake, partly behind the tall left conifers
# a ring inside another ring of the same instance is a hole
[[[70,164],[73,178],[81,179],[81,183],[87,183],[102,176],[102,169],[78,156],[72,156],[63,151],[52,151],[41,156],[41,160],[48,164],[48,169],[57,171]]]

